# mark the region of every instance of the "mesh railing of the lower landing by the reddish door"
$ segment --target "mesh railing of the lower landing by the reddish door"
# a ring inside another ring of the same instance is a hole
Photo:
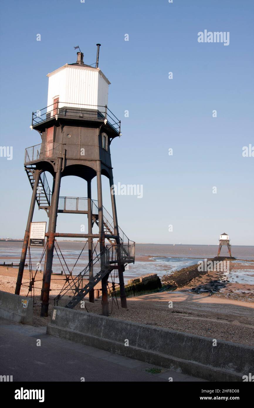
[[[63,144],[49,142],[36,144],[25,149],[24,164],[42,159],[57,159],[62,155]]]

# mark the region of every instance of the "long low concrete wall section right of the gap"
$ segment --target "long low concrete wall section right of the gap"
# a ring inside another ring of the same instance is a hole
[[[254,373],[254,347],[58,306],[47,334],[208,381],[243,381]]]

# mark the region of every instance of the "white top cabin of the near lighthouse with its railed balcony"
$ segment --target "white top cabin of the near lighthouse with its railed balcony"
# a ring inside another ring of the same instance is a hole
[[[78,52],[77,62],[65,64],[47,75],[47,106],[33,112],[32,129],[43,131],[45,122],[53,123],[61,117],[69,121],[101,121],[109,137],[121,134],[121,121],[107,106],[110,82],[97,63],[91,67],[84,64],[83,58],[83,53]]]

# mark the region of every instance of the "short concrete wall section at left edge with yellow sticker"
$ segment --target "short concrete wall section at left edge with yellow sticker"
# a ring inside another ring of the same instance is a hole
[[[0,290],[0,317],[16,323],[31,324],[33,300]]]

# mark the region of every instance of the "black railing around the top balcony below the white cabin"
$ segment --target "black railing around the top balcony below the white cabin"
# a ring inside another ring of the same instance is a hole
[[[108,109],[107,105],[77,104],[60,101],[46,106],[43,109],[38,109],[36,112],[32,112],[32,126],[36,126],[46,120],[64,118],[66,116],[68,116],[68,118],[83,118],[84,120],[106,119],[108,124],[117,131],[117,133],[121,131],[121,120]]]

